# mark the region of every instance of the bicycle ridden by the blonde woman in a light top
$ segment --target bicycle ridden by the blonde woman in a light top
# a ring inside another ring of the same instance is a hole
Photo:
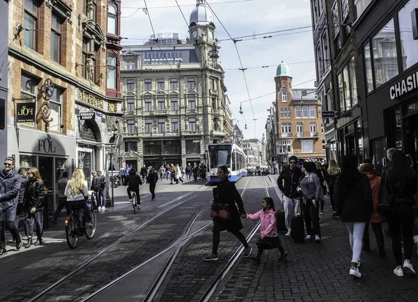
[[[80,209],[81,207],[73,207],[70,216],[65,219],[65,236],[70,248],[77,246],[80,236],[85,235],[87,239],[92,239],[95,234],[97,224],[95,212],[92,209],[88,209],[93,227],[86,228],[84,213],[80,214]]]

